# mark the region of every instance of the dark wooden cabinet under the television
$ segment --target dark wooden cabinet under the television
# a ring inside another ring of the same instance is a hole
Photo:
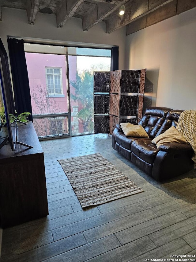
[[[33,124],[18,127],[18,141],[0,150],[0,227],[6,228],[48,215],[42,147]]]

